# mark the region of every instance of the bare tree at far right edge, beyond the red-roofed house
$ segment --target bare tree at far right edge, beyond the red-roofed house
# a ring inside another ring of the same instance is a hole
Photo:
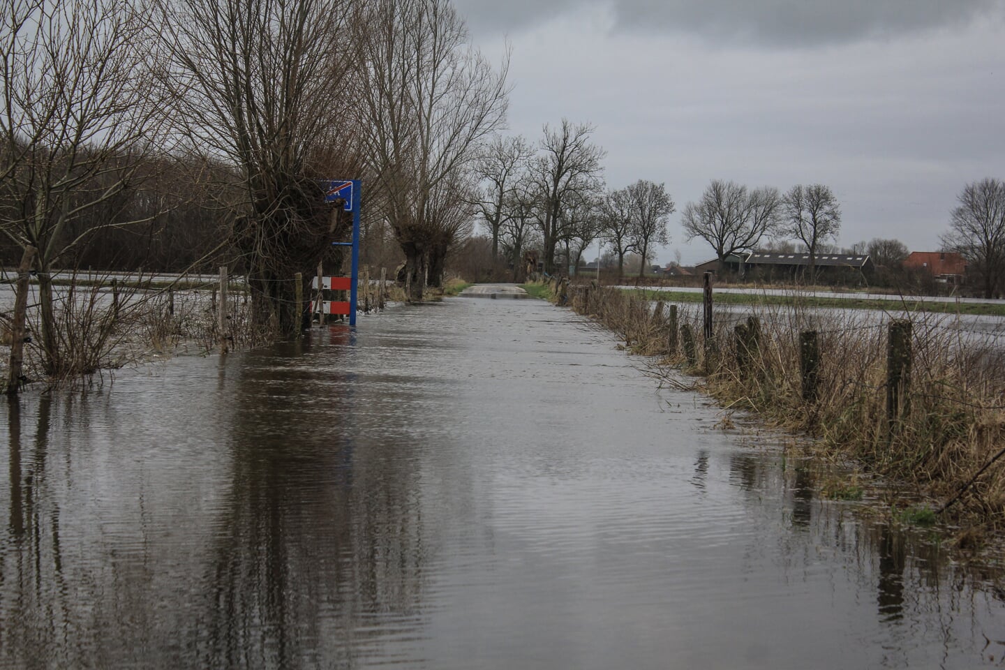
[[[943,245],[963,254],[981,279],[984,297],[993,297],[1005,283],[1005,182],[967,184],[957,199]]]

